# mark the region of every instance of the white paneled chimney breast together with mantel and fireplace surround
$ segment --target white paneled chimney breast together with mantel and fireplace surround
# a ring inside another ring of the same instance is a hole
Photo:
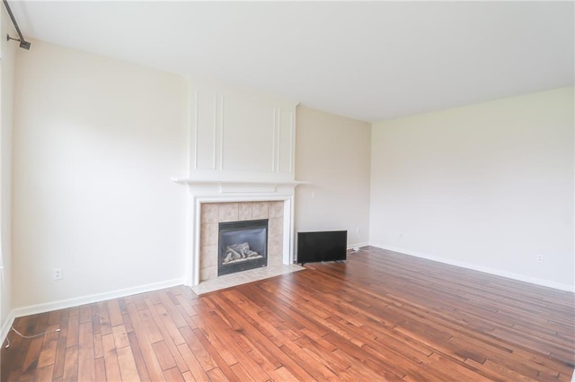
[[[173,178],[189,190],[190,286],[217,277],[212,225],[245,220],[240,215],[248,210],[259,215],[264,205],[281,209],[270,213],[275,227],[270,245],[276,246],[270,262],[293,264],[295,188],[305,183],[295,179],[296,106],[213,82],[192,83],[189,173]],[[214,209],[217,218],[205,216]],[[257,218],[268,219],[267,214]]]

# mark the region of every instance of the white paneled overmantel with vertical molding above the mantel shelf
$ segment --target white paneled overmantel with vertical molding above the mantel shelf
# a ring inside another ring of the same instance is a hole
[[[194,82],[190,178],[295,178],[296,102]]]

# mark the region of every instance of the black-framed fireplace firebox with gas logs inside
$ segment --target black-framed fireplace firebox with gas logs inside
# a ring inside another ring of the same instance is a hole
[[[219,223],[217,275],[268,265],[268,219]]]

